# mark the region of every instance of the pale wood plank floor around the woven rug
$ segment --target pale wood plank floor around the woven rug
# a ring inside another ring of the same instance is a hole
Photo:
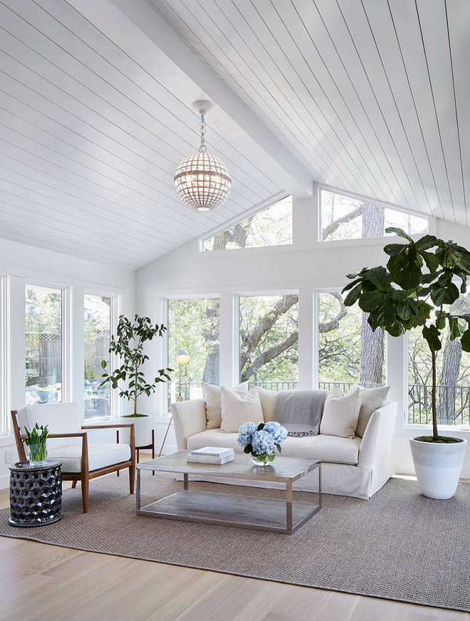
[[[0,490],[7,506],[9,490]],[[0,555],[1,621],[470,621],[464,612],[21,539],[0,537]]]

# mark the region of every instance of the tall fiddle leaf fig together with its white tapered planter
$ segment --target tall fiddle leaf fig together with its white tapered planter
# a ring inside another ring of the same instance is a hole
[[[348,274],[352,282],[345,305],[356,302],[372,330],[383,328],[392,336],[422,327],[432,360],[432,436],[410,439],[419,489],[424,496],[444,499],[454,495],[464,461],[466,440],[439,436],[436,407],[436,352],[442,348],[442,330],[449,325],[451,340],[459,339],[470,351],[470,315],[452,314],[449,305],[466,292],[470,252],[454,241],[424,235],[414,241],[402,229],[390,227],[406,240],[388,244],[387,267],[363,268]],[[454,279],[460,279],[460,289]]]

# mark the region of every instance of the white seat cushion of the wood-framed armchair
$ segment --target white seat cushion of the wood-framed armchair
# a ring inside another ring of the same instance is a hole
[[[48,449],[48,458],[60,459],[63,472],[81,472],[81,444],[69,444],[66,447]],[[128,444],[88,444],[88,470],[98,470],[121,461],[130,459]]]

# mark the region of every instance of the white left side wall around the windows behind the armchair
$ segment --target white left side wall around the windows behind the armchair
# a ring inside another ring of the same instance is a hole
[[[122,296],[122,312],[135,313],[135,272],[78,259],[14,241],[0,241],[0,276],[10,277],[10,390],[9,407],[16,409],[25,400],[25,304],[26,282],[67,287],[71,295],[71,340],[73,347],[71,399],[83,405],[83,293]],[[126,407],[123,408],[127,411]],[[0,437],[0,488],[9,485],[6,451],[14,439]]]

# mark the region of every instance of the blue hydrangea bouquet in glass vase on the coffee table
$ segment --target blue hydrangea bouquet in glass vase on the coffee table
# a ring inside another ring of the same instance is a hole
[[[286,437],[286,427],[278,422],[246,422],[241,425],[236,441],[258,466],[266,466],[276,456],[275,449],[281,453],[281,443]]]

